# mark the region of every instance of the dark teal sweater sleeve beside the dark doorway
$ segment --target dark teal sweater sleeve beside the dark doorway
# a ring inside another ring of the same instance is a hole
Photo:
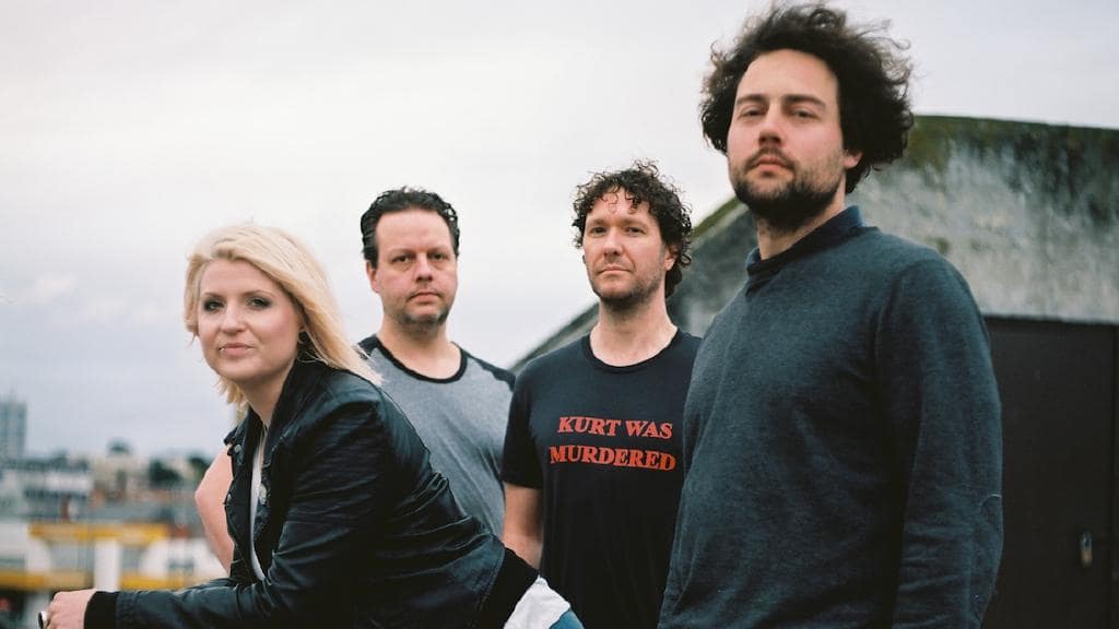
[[[979,627],[1003,546],[1000,403],[986,327],[941,259],[894,282],[876,335],[904,496],[894,627]]]

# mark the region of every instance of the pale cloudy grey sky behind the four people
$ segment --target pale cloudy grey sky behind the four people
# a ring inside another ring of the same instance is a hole
[[[181,326],[187,252],[301,236],[349,334],[379,322],[358,217],[459,209],[451,334],[501,365],[593,302],[574,186],[652,158],[697,222],[730,194],[696,121],[715,41],[768,2],[0,3],[0,396],[28,447],[215,451],[229,411]],[[847,1],[890,19],[919,113],[1119,126],[1113,0]]]

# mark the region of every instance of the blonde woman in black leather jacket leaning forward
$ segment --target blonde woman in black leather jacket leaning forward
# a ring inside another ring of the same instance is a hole
[[[582,627],[457,506],[346,341],[327,279],[274,228],[218,229],[187,266],[184,319],[246,411],[226,436],[228,579],[60,592],[50,628]]]

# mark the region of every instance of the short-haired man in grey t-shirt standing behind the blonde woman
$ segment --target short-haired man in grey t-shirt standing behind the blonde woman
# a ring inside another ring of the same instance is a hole
[[[361,216],[361,243],[384,317],[377,335],[360,346],[463,510],[500,533],[499,473],[513,374],[446,337],[458,290],[455,212],[434,193],[388,190]]]

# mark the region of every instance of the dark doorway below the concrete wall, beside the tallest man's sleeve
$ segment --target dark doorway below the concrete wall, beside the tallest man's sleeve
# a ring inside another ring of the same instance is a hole
[[[1005,545],[985,627],[1111,627],[1119,328],[987,325],[1003,398]]]

